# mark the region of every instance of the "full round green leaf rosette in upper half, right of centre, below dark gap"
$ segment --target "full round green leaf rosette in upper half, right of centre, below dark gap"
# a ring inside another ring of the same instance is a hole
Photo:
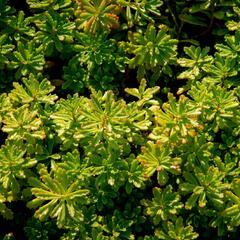
[[[144,34],[129,32],[129,43],[125,49],[134,57],[129,60],[130,68],[138,68],[138,79],[146,74],[147,70],[158,71],[162,68],[164,73],[171,75],[169,64],[177,55],[177,40],[171,39],[164,29],[159,31],[149,24]]]

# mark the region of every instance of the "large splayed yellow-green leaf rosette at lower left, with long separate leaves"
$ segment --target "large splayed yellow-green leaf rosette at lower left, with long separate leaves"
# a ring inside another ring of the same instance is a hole
[[[81,218],[81,213],[77,211],[81,201],[77,200],[85,197],[89,191],[80,189],[78,180],[68,178],[61,169],[58,169],[51,177],[43,166],[40,168],[39,174],[42,181],[37,178],[29,178],[32,194],[36,198],[27,206],[29,208],[39,207],[35,212],[35,217],[40,220],[44,220],[48,216],[57,218],[57,224],[60,228],[64,226],[69,217]],[[48,202],[45,203],[45,201]],[[43,203],[45,204],[42,205]]]

